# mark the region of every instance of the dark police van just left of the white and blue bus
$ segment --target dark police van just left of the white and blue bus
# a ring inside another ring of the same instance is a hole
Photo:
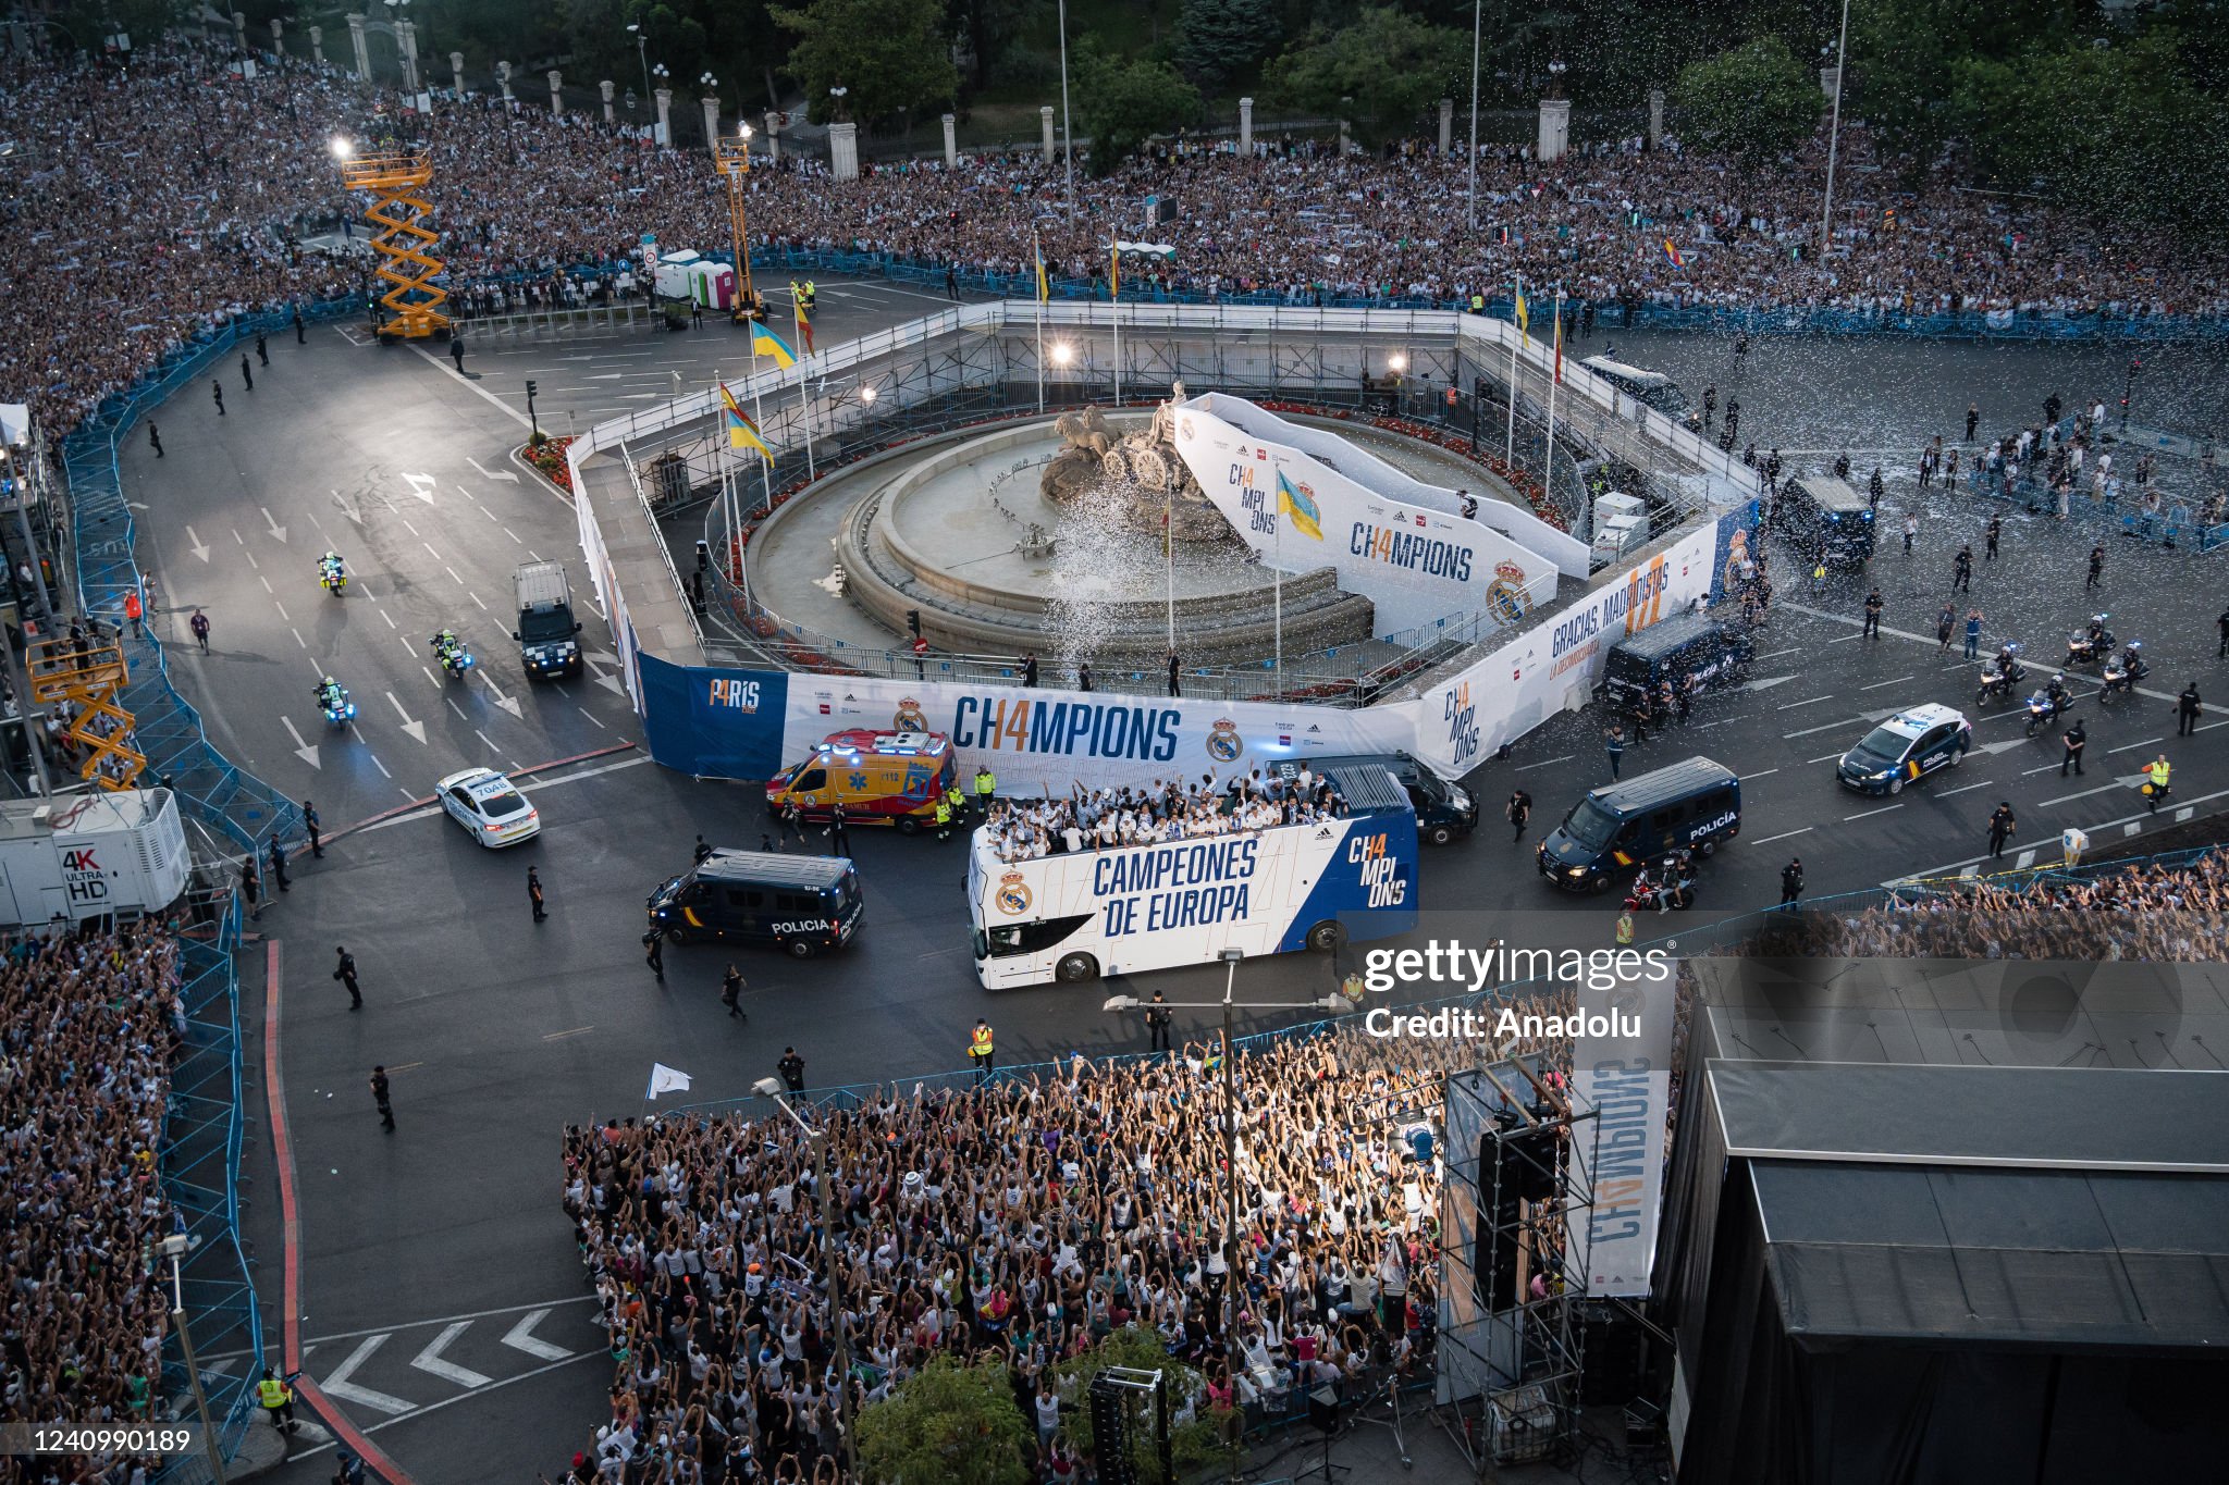
[[[791,960],[843,948],[865,911],[849,857],[769,850],[713,850],[649,899],[651,931],[675,944],[776,944]]]

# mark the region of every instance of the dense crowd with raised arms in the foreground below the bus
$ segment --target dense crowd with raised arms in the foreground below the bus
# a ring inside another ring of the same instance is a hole
[[[932,1356],[1001,1363],[1036,1425],[1039,1478],[1074,1481],[1090,1469],[1065,1429],[1081,1396],[1057,1371],[1123,1327],[1199,1369],[1197,1396],[1172,1400],[1184,1418],[1224,1425],[1400,1367],[1435,1316],[1438,1098],[1467,1051],[1346,1029],[1239,1046],[1235,1242],[1215,1046],[823,1109],[854,1403]],[[838,1478],[802,1131],[780,1115],[609,1122],[568,1133],[566,1171],[617,1363],[575,1478]]]

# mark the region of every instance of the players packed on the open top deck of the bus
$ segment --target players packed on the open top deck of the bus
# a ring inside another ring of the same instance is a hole
[[[1291,779],[1264,779],[1255,768],[1253,775],[1233,775],[1228,784],[1217,784],[1210,773],[1197,784],[1155,779],[1150,788],[1077,790],[1065,799],[999,799],[985,824],[1001,862],[1028,862],[1070,850],[1253,835],[1335,819],[1344,810],[1331,781],[1308,768]]]

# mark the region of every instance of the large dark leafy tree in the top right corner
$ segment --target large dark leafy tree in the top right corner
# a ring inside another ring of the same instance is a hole
[[[1948,116],[2002,189],[2155,223],[2229,209],[2229,107],[2198,89],[2171,33],[1966,58],[1957,78]]]

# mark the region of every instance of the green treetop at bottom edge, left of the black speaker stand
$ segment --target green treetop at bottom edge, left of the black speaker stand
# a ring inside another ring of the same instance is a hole
[[[936,1356],[858,1416],[858,1463],[874,1485],[1028,1485],[1034,1438],[1005,1367]]]

